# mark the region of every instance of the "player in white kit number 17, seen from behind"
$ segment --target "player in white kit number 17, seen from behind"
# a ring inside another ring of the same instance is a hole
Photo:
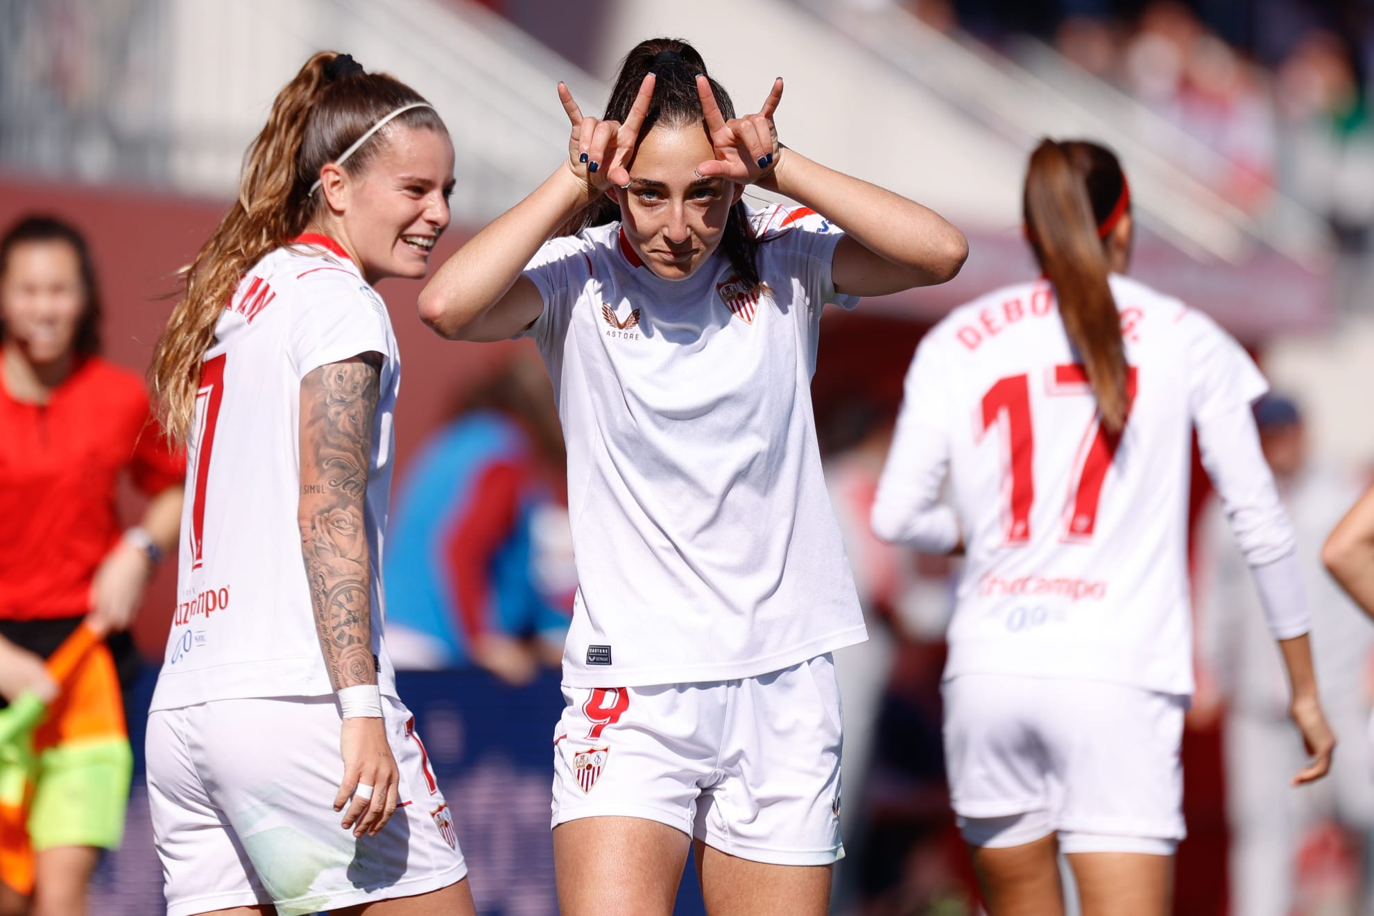
[[[1334,737],[1250,413],[1264,378],[1202,313],[1124,276],[1129,191],[1110,151],[1043,141],[1024,206],[1044,276],[960,306],[922,341],[872,523],[967,553],[944,739],[988,911],[1062,913],[1063,851],[1084,913],[1156,916],[1183,838],[1194,427],[1315,758],[1294,781],[1327,770]]]

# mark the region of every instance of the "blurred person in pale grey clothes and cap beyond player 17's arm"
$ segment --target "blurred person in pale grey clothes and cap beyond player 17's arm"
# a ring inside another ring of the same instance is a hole
[[[1231,825],[1231,906],[1245,916],[1286,916],[1300,900],[1298,850],[1304,834],[1334,821],[1362,854],[1367,883],[1374,843],[1374,766],[1366,737],[1374,626],[1326,575],[1322,542],[1355,503],[1355,475],[1312,459],[1297,405],[1270,394],[1254,405],[1264,459],[1293,520],[1307,603],[1312,611],[1312,656],[1341,753],[1330,779],[1307,792],[1276,792],[1301,765],[1279,656],[1261,623],[1260,596],[1235,549],[1224,514],[1210,507],[1200,531],[1198,607],[1202,677],[1198,711],[1224,703],[1226,802]],[[1208,695],[1212,696],[1208,696]],[[1215,698],[1215,699],[1213,699]],[[1371,912],[1363,889],[1360,912]]]

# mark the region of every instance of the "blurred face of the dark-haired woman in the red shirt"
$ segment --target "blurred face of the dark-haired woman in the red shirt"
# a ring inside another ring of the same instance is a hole
[[[87,308],[81,255],[69,243],[21,242],[0,276],[5,339],[30,363],[56,363],[71,353]]]

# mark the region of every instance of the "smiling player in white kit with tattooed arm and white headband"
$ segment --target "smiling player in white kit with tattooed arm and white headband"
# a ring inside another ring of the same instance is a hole
[[[379,574],[400,358],[372,286],[425,276],[452,183],[414,89],[312,56],[158,342],[191,489],[147,729],[170,916],[473,913]]]

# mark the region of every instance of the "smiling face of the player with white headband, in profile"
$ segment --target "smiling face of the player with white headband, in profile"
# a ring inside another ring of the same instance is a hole
[[[448,228],[453,190],[453,144],[429,128],[394,126],[382,152],[346,181],[345,246],[368,283],[398,276],[420,279],[436,240]]]

